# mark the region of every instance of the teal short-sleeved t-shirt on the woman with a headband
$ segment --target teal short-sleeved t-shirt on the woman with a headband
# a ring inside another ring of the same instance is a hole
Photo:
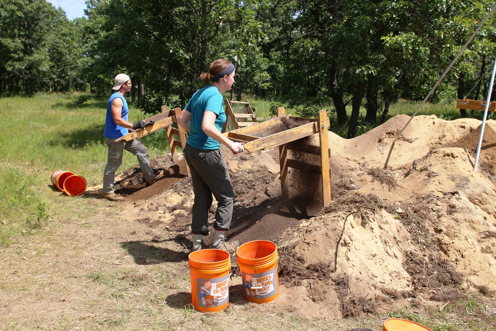
[[[185,107],[191,113],[191,131],[186,140],[188,145],[197,149],[220,149],[220,143],[201,130],[201,122],[205,111],[214,112],[217,115],[215,127],[222,131],[222,127],[226,123],[223,105],[224,97],[215,86],[205,86],[193,94]]]

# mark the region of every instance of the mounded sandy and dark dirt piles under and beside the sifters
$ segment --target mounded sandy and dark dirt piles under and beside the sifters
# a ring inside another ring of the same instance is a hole
[[[239,155],[222,149],[236,193],[229,239],[278,245],[279,307],[340,319],[440,305],[463,291],[494,293],[496,123],[487,122],[478,172],[481,121],[435,116],[410,123],[384,168],[408,120],[396,116],[353,139],[328,133],[332,201],[323,208],[315,173],[290,170],[291,197],[281,199],[277,148]],[[318,145],[318,137],[299,143]],[[314,162],[303,154],[292,157]],[[124,173],[120,217],[168,229],[186,254],[191,184],[184,162],[168,167],[167,158],[154,160],[162,173],[149,187],[138,169]],[[232,281],[241,284],[236,268]]]

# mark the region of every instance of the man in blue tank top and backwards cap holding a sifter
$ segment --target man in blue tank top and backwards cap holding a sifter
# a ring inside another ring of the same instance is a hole
[[[148,150],[145,145],[138,139],[130,141],[121,140],[116,142],[117,138],[126,135],[131,130],[142,129],[145,127],[143,121],[137,123],[127,122],[127,101],[124,94],[131,90],[131,79],[125,73],[120,73],[114,79],[113,90],[117,90],[111,95],[107,104],[107,117],[105,119],[105,142],[109,146],[107,165],[103,173],[103,197],[109,200],[122,200],[122,196],[114,192],[114,181],[116,171],[122,164],[124,149],[136,155],[138,164],[143,173],[143,177],[148,185],[152,184],[157,174],[153,172]]]

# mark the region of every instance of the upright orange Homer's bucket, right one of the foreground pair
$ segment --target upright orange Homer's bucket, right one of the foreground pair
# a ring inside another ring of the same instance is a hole
[[[241,245],[236,252],[245,298],[255,303],[274,300],[279,295],[277,247],[271,241],[255,240]]]

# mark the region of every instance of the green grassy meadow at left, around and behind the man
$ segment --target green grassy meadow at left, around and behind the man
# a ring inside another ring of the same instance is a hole
[[[88,186],[102,182],[107,98],[78,100],[77,94],[0,98],[0,245],[67,212],[66,199],[72,198],[54,192],[50,182],[54,171],[83,176]],[[148,117],[129,104],[130,122]],[[169,150],[165,130],[141,141],[151,158]],[[124,153],[118,173],[136,164],[135,156]],[[70,203],[84,201],[76,198]]]

